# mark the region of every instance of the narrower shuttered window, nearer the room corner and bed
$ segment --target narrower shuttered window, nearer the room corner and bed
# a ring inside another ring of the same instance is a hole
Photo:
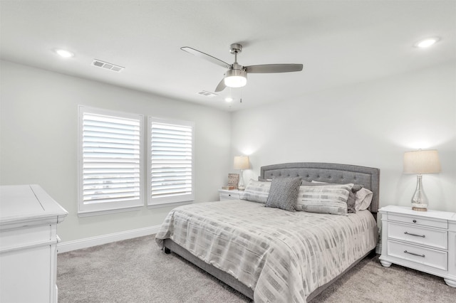
[[[149,117],[149,205],[192,201],[193,123]]]

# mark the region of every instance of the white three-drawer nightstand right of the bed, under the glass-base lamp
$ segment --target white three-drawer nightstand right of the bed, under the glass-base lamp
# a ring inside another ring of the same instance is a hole
[[[410,207],[386,206],[382,218],[384,267],[402,265],[443,277],[456,287],[456,213],[412,211]]]

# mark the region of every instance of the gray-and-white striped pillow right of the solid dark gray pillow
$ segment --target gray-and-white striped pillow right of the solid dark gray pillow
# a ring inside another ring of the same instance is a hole
[[[347,200],[353,184],[328,184],[324,186],[300,186],[296,211],[346,215]]]

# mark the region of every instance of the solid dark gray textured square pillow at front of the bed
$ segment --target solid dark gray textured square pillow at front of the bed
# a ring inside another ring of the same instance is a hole
[[[266,207],[280,208],[285,211],[296,211],[294,205],[298,198],[301,177],[297,178],[274,178],[271,181],[271,189],[266,200]]]

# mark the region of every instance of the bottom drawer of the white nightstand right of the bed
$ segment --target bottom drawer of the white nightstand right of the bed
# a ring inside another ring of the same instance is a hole
[[[388,255],[438,270],[447,270],[447,252],[388,240]]]

